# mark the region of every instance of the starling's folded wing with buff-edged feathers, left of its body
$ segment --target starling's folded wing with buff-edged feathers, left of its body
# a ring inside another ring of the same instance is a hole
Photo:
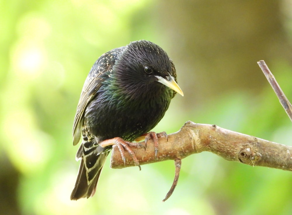
[[[101,83],[105,80],[102,74],[112,70],[115,61],[124,47],[113,49],[98,58],[93,64],[82,88],[80,99],[77,105],[77,111],[73,123],[73,145],[78,144],[82,133],[82,121],[84,111],[88,103],[95,97]]]

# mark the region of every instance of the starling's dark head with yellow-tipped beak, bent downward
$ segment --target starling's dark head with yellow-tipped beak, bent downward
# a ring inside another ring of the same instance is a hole
[[[154,91],[167,86],[183,96],[183,91],[176,82],[172,60],[162,48],[150,41],[131,42],[114,67],[117,71],[117,81],[128,92],[138,88]]]

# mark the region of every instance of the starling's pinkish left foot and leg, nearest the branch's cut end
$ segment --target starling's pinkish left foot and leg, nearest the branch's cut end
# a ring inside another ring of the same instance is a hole
[[[141,143],[132,143],[132,142],[123,140],[121,137],[115,137],[115,138],[112,138],[112,139],[104,140],[104,141],[100,142],[99,145],[101,147],[106,147],[106,146],[110,146],[110,145],[117,145],[125,165],[126,165],[126,157],[125,157],[125,152],[124,151],[126,150],[131,155],[135,166],[138,166],[139,170],[141,170],[139,161],[135,156],[135,152],[133,152],[133,150],[130,147],[137,147],[137,148],[146,149],[146,147],[143,144],[141,144]]]

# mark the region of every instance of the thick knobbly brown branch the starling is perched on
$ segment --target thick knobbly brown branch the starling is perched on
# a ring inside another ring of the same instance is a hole
[[[183,159],[189,155],[209,151],[229,160],[251,166],[263,166],[292,171],[292,147],[257,137],[230,131],[216,125],[196,124],[188,121],[178,132],[159,138],[157,160],[154,144],[148,140],[146,151],[133,147],[140,165],[164,160]],[[128,153],[126,164],[117,147],[113,147],[111,168],[134,166]]]

